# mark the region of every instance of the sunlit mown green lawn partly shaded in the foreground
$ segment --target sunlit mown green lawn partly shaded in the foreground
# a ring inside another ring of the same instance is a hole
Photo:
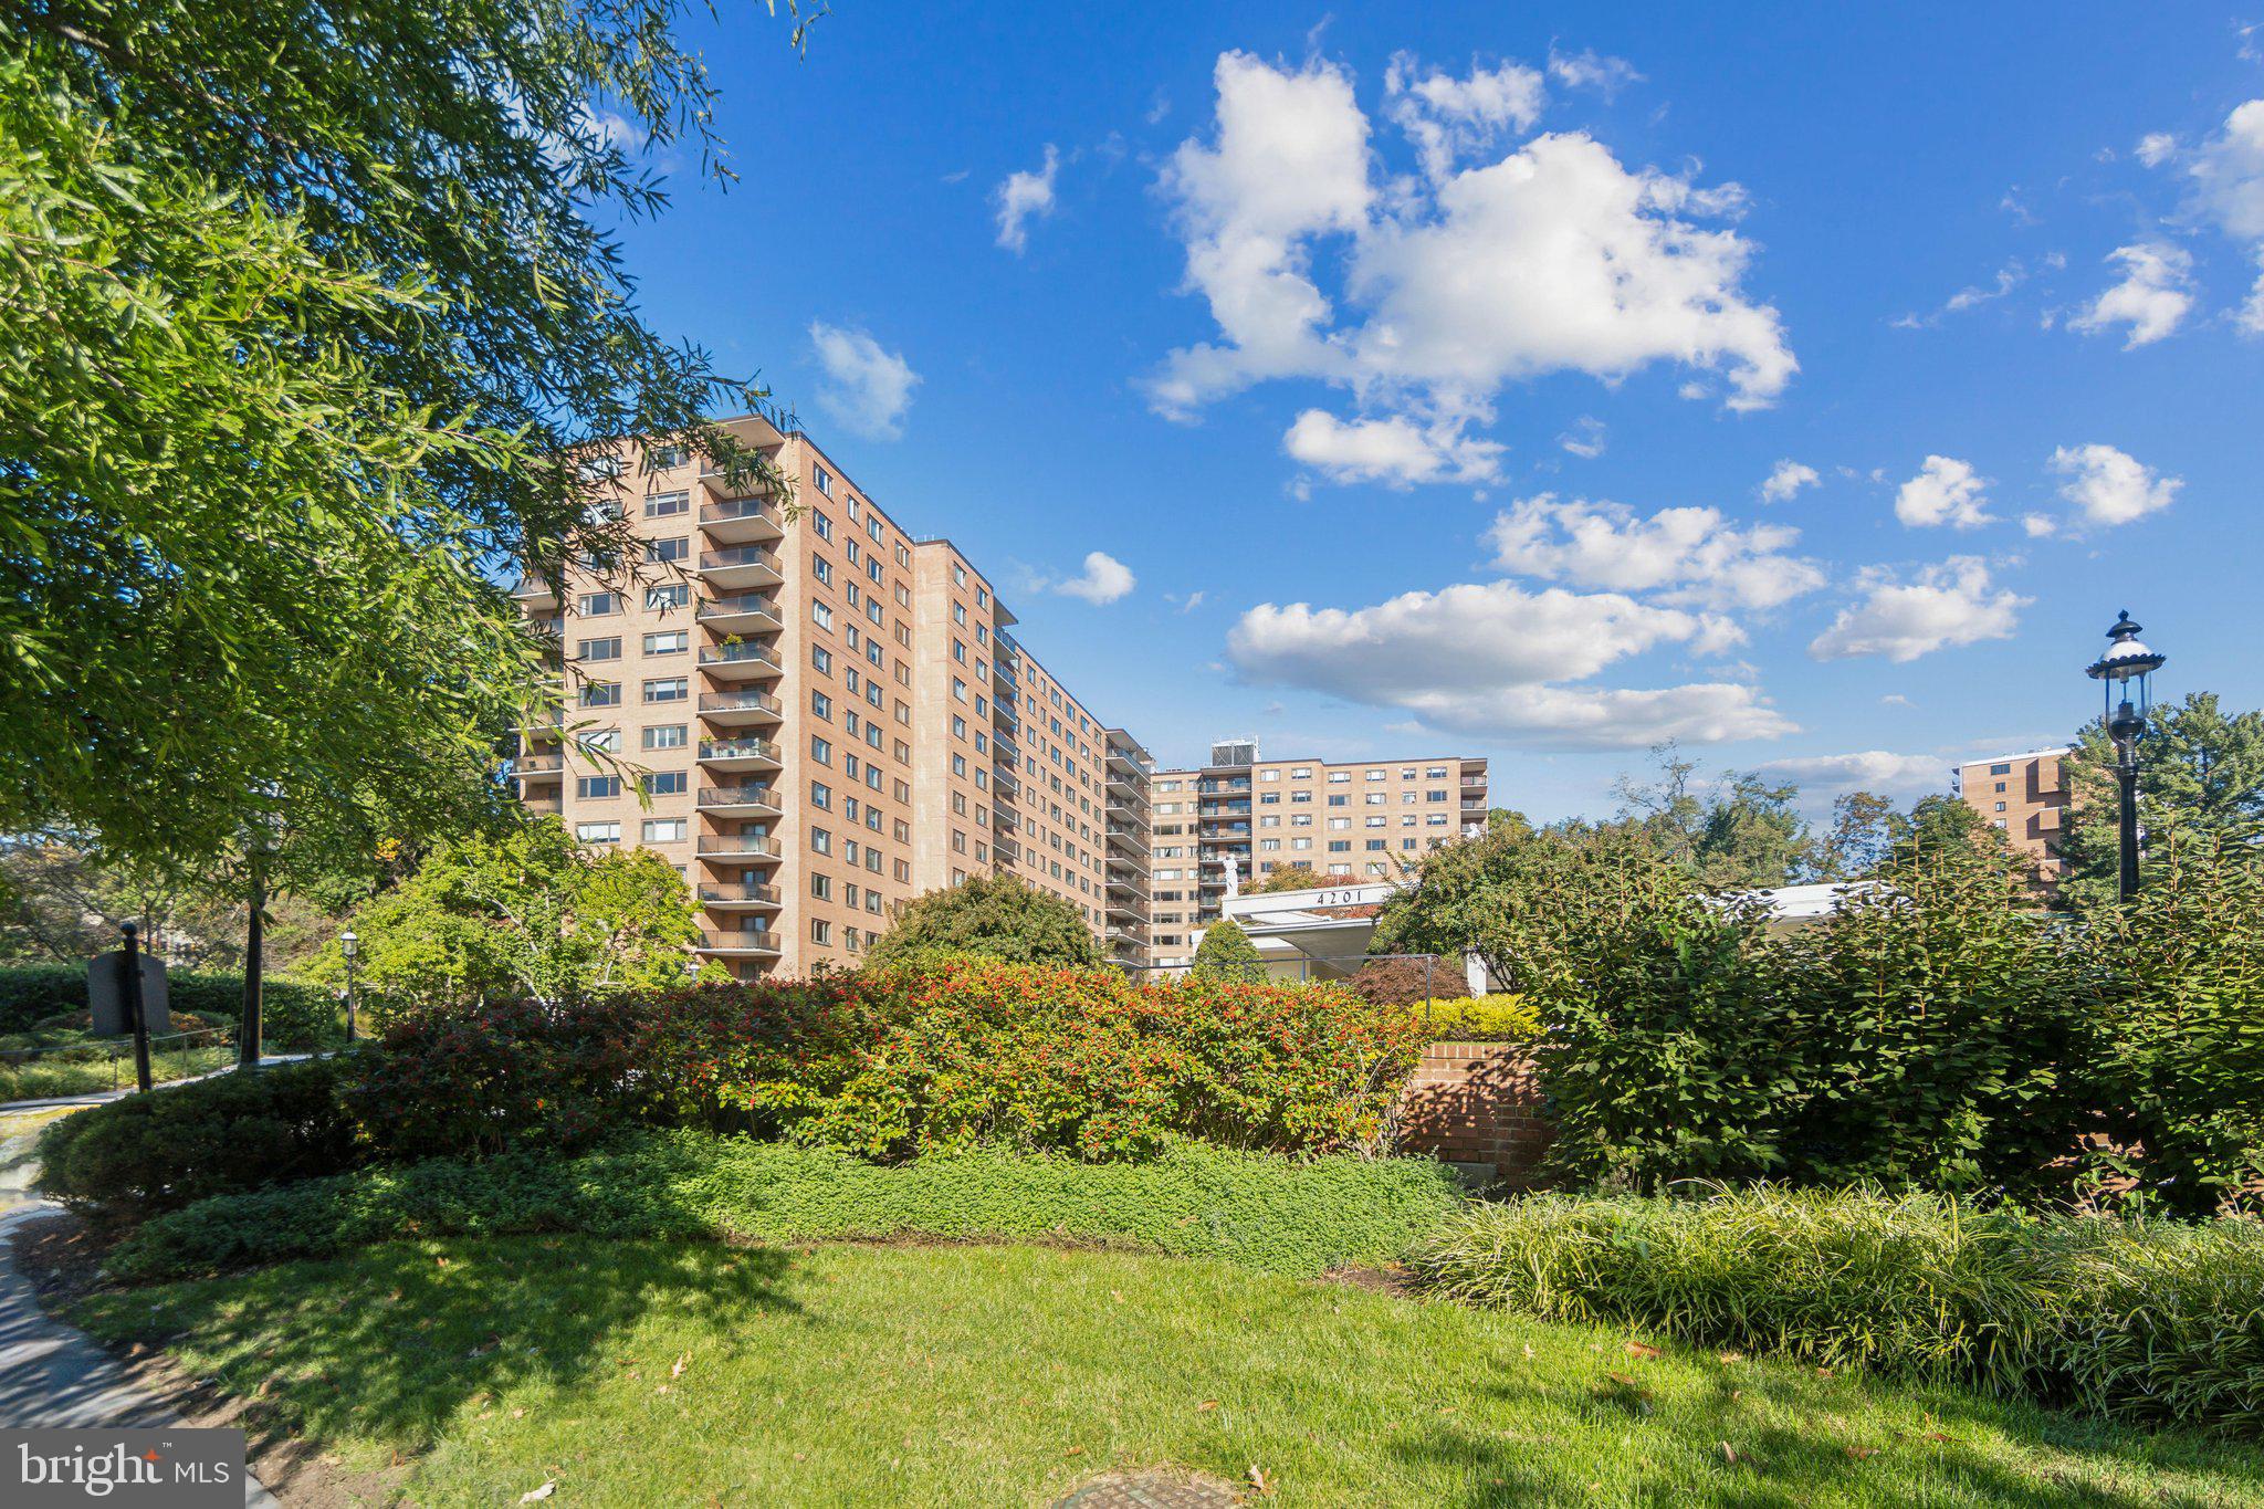
[[[1279,1504],[2264,1504],[2257,1448],[1121,1253],[401,1242],[79,1319],[351,1468],[414,1455],[428,1507],[1044,1504],[1159,1461]]]

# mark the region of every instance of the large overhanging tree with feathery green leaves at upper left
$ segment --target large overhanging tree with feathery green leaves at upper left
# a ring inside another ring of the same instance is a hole
[[[774,489],[650,330],[625,140],[722,174],[679,0],[0,0],[0,828],[208,869],[471,830],[541,649],[496,575],[627,559],[586,462]],[[797,29],[799,36],[799,29]]]

